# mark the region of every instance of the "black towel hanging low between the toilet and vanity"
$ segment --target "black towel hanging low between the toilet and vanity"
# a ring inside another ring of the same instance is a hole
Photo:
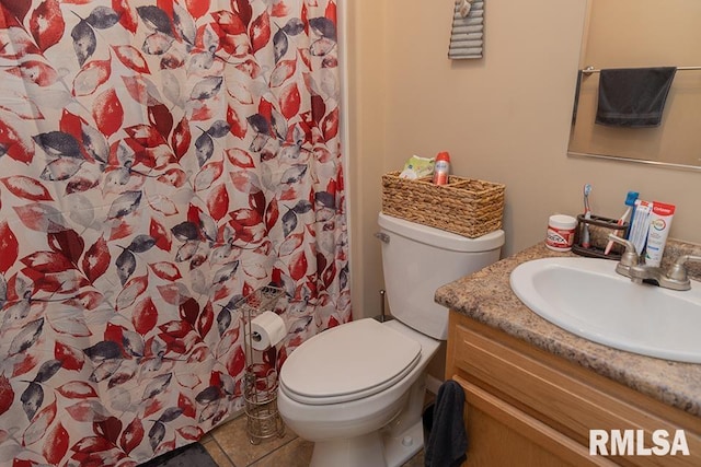
[[[467,459],[463,409],[462,387],[452,380],[446,381],[436,395],[434,421],[424,450],[426,467],[457,467]]]

